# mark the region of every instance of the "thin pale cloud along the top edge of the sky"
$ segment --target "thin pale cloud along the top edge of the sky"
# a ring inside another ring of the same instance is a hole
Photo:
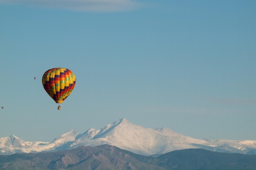
[[[142,7],[134,0],[0,0],[0,4],[22,4],[76,11],[128,11]]]

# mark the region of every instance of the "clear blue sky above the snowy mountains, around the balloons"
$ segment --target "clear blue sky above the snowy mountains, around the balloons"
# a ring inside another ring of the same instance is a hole
[[[255,21],[254,0],[0,0],[0,137],[52,141],[126,118],[256,140]],[[41,82],[54,67],[76,75],[61,110]]]

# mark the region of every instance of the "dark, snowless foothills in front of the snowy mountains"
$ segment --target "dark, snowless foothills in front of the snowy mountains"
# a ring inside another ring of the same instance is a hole
[[[184,149],[146,157],[115,146],[0,155],[0,170],[255,170],[256,155]]]

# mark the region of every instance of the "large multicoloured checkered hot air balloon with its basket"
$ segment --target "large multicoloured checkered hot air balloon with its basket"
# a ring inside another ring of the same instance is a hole
[[[67,68],[51,68],[43,74],[42,83],[48,95],[61,104],[73,91],[76,76]],[[61,110],[60,105],[58,110]]]

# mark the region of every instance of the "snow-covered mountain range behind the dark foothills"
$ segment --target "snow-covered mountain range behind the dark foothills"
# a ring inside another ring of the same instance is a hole
[[[80,134],[74,130],[64,133],[52,142],[23,141],[14,135],[0,138],[0,154],[17,152],[47,152],[67,150],[80,145],[109,144],[141,155],[164,154],[173,150],[203,148],[212,151],[256,154],[256,140],[207,140],[181,135],[168,128],[144,128],[120,119],[100,130],[90,128]]]

